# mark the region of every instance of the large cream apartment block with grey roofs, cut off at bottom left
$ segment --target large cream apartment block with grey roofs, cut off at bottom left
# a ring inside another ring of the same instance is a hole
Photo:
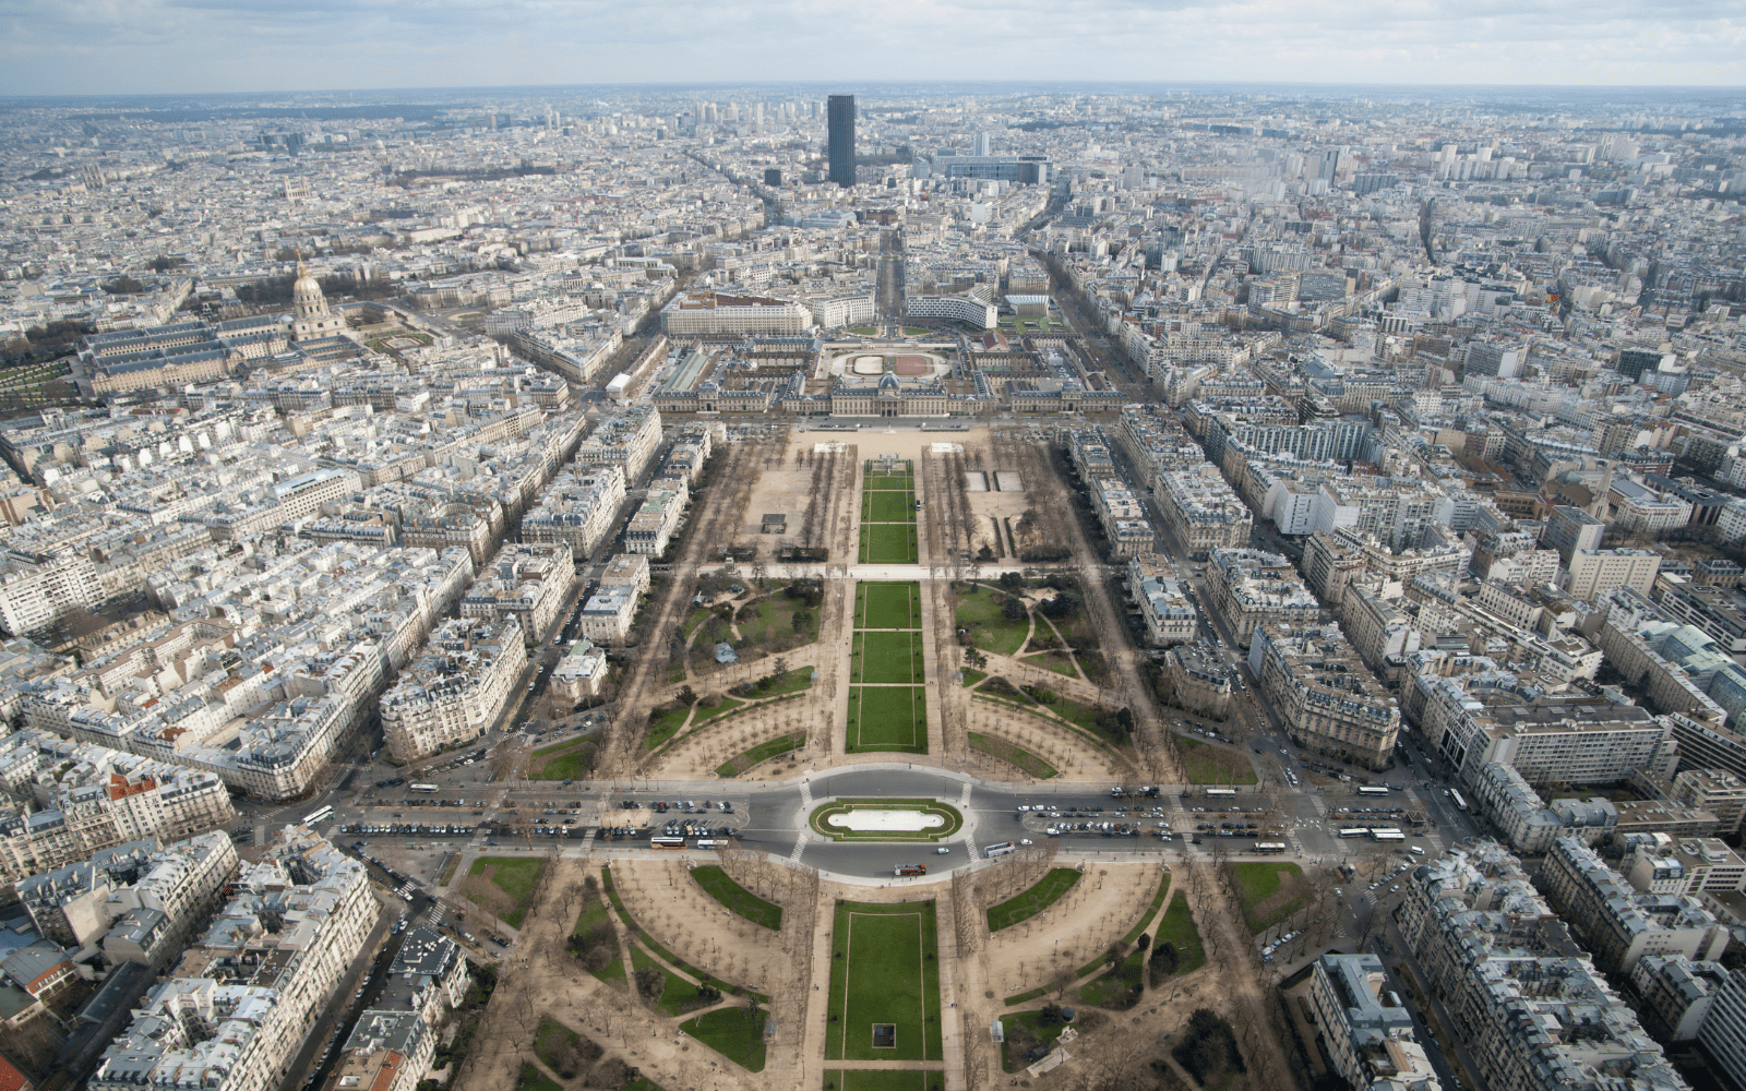
[[[286,826],[230,901],[134,1009],[87,1086],[272,1091],[328,1011],[375,925],[360,861]]]

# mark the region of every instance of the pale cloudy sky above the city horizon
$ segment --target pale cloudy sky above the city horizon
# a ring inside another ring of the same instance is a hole
[[[0,0],[0,94],[854,80],[1746,86],[1746,0]]]

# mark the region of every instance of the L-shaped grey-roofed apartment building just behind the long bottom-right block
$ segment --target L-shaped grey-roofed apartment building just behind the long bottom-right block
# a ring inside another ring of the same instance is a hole
[[[1645,955],[1720,958],[1730,934],[1688,894],[1636,890],[1578,838],[1557,838],[1540,882],[1571,934],[1605,972],[1631,974]]]

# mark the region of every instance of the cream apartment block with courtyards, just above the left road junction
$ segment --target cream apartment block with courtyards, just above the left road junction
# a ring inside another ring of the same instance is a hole
[[[388,752],[416,761],[473,742],[520,700],[526,667],[519,614],[445,621],[382,695]]]

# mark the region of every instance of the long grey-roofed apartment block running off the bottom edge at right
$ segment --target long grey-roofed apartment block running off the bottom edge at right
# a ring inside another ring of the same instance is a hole
[[[1502,845],[1454,847],[1400,887],[1400,934],[1486,1086],[1685,1089]]]

